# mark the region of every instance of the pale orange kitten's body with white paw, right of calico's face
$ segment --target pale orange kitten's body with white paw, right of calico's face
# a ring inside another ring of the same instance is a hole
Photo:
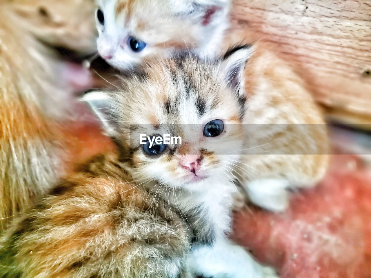
[[[233,162],[236,177],[250,201],[282,212],[289,189],[315,186],[325,175],[326,124],[303,80],[264,44],[254,46],[245,77],[244,155]]]

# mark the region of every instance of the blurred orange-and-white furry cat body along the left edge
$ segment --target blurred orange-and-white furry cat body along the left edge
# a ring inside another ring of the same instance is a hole
[[[68,20],[48,8],[53,1],[43,6],[37,3],[44,1],[32,1],[33,6],[31,1],[19,2],[0,3],[0,231],[62,175],[67,142],[60,124],[76,107],[74,87],[91,86],[86,70],[62,63],[40,43],[54,31],[58,35],[49,43],[57,44],[62,26],[73,24],[64,24]],[[39,14],[41,7],[48,19]],[[39,28],[37,16],[44,22]],[[83,51],[94,48],[88,39],[94,37],[93,30],[91,35],[76,32],[71,44],[79,45],[80,38]]]

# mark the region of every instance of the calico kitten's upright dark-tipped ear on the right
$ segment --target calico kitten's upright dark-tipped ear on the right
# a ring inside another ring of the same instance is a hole
[[[247,60],[252,56],[252,48],[248,45],[230,49],[223,57],[222,68],[224,78],[239,97],[244,97],[244,69]]]

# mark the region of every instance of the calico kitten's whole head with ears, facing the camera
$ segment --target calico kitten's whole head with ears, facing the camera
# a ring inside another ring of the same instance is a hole
[[[201,189],[225,179],[239,159],[243,138],[243,69],[249,49],[225,60],[189,56],[162,59],[123,80],[120,92],[84,97],[121,145],[135,179]],[[140,135],[180,136],[181,144],[150,148]]]

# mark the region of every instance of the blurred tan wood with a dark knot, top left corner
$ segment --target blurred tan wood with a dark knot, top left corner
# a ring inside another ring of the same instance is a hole
[[[43,43],[82,54],[96,51],[94,0],[3,0],[24,30]]]

